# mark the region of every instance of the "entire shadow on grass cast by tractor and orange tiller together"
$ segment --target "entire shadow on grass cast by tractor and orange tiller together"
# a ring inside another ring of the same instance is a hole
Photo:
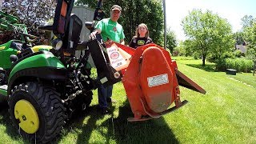
[[[60,143],[70,133],[78,134],[76,143],[90,143],[90,137],[94,130],[97,130],[99,135],[106,139],[104,143],[112,143],[113,141],[120,144],[179,143],[163,118],[145,122],[127,122],[127,118],[133,116],[128,101],[124,102],[121,107],[118,107],[118,110],[118,118],[114,118],[114,115],[110,114],[108,118],[105,118],[104,122],[98,124],[98,120],[104,116],[97,110],[97,106],[90,106],[85,112],[77,114],[70,119],[62,133],[50,143]],[[111,106],[110,111],[114,111],[114,106]],[[2,115],[0,117],[0,124],[6,126],[6,133],[11,138],[18,139],[18,133],[10,124],[7,107],[2,108],[0,105],[0,115]],[[86,118],[88,118],[87,122],[84,123]],[[98,129],[99,127],[100,129]],[[24,143],[29,142],[24,139]]]

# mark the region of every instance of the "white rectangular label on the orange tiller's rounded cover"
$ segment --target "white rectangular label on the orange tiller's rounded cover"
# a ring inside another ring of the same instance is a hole
[[[147,82],[149,87],[159,86],[159,85],[169,83],[168,74],[161,74],[154,77],[149,77],[147,78]]]

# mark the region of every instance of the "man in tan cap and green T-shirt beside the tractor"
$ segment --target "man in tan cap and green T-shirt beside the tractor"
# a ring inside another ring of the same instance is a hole
[[[122,26],[118,24],[122,8],[114,5],[111,7],[110,18],[104,18],[97,23],[95,30],[90,34],[90,38],[96,38],[96,34],[102,34],[103,41],[112,40],[125,44]],[[102,114],[108,113],[107,102],[113,102],[111,99],[113,86],[99,86],[98,87],[98,104]]]

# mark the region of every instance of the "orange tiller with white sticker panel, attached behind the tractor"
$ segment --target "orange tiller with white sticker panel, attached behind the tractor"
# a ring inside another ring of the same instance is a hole
[[[206,94],[186,75],[178,71],[168,51],[152,43],[136,50],[116,42],[106,44],[110,65],[122,72],[122,82],[134,118],[129,122],[159,118],[186,104],[180,100],[180,86]],[[175,106],[169,108],[172,103]]]

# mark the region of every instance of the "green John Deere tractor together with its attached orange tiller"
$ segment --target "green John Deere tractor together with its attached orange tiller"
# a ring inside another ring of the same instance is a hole
[[[159,118],[185,105],[179,85],[206,93],[154,43],[134,50],[116,42],[102,42],[100,36],[79,42],[82,21],[71,14],[73,5],[74,0],[58,0],[53,25],[41,27],[53,31],[52,47],[33,47],[26,39],[0,46],[0,99],[8,102],[10,120],[25,138],[42,143],[55,138],[65,121],[90,106],[92,90],[99,85],[123,82],[134,113],[129,122]],[[94,20],[102,15],[97,8]],[[93,25],[86,22],[90,30]],[[78,58],[75,50],[83,51]],[[90,78],[90,56],[97,69],[95,79]],[[175,106],[169,108],[173,102]]]

